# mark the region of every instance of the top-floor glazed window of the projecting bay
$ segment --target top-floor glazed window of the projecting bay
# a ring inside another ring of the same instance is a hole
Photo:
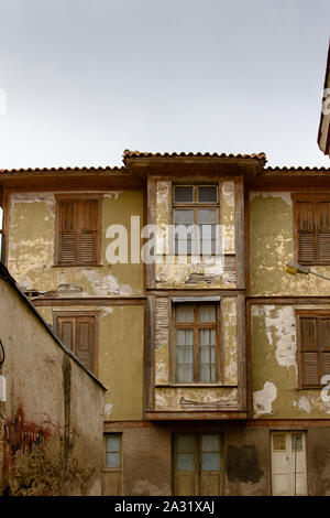
[[[173,211],[175,225],[175,253],[216,253],[216,225],[219,223],[218,185],[174,185]],[[198,229],[194,239],[191,233]]]

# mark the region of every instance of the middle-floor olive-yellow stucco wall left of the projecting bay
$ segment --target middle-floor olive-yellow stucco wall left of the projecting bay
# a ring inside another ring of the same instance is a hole
[[[96,305],[92,310],[98,312],[99,319],[97,377],[108,389],[105,420],[140,420],[143,407],[144,305]],[[53,311],[79,313],[86,311],[86,306],[41,306],[38,311],[52,324]]]

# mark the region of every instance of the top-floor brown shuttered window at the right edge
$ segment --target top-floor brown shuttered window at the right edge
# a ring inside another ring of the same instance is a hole
[[[330,195],[293,195],[295,252],[300,265],[330,265]]]

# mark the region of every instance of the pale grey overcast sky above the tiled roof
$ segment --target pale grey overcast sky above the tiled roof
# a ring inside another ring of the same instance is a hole
[[[328,0],[0,0],[0,169],[317,145]]]

